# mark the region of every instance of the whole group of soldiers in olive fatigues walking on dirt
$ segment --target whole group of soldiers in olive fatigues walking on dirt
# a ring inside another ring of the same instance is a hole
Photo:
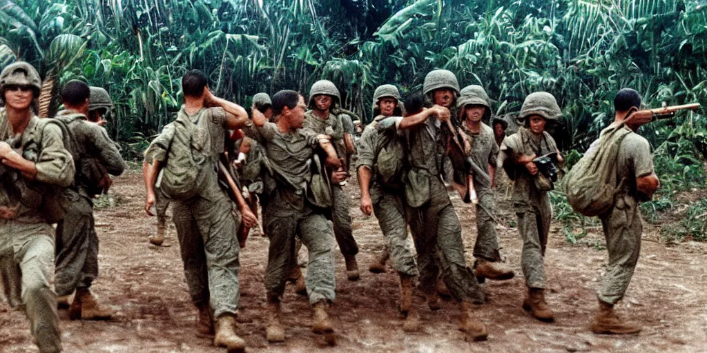
[[[66,83],[64,110],[55,119],[39,119],[33,102],[40,88],[37,72],[26,63],[12,64],[0,74],[5,102],[0,140],[9,141],[0,142],[0,167],[14,171],[4,173],[2,181],[4,186],[6,181],[20,186],[17,192],[0,192],[0,279],[10,304],[24,307],[40,351],[59,352],[57,294],[59,305],[68,304],[73,319],[112,315],[89,290],[98,274],[91,199],[110,186],[108,174],[122,173],[124,162],[100,127],[103,114],[112,107],[105,90],[76,80]],[[235,323],[239,251],[248,229],[259,226],[255,202],[259,201],[261,229],[269,239],[264,275],[267,341],[286,338],[281,300],[288,280],[308,297],[312,331],[331,340],[334,240],[344,256],[348,280],[360,277],[351,197],[346,191],[356,150],[354,124],[341,107],[339,90],[320,80],[312,85],[309,100],[293,90],[272,97],[259,93],[250,116],[240,105],[212,95],[200,71],[185,73],[182,93],[185,102],[177,119],[145,152],[145,209],[150,215],[153,206],[157,211],[158,234],[150,241],[160,245],[166,205],[173,206],[185,278],[199,312],[199,331],[214,335],[214,345],[228,352],[245,349]],[[621,90],[614,100],[614,124],[640,106],[636,91]],[[554,320],[544,294],[552,185],[533,161],[554,153],[556,162],[563,162],[545,131],[561,118],[561,109],[547,92],[528,95],[518,116],[522,126],[506,137],[506,121],[491,120],[491,107],[484,88],[461,89],[455,75],[446,70],[428,73],[422,92],[404,102],[395,85],[381,85],[374,92],[375,118],[357,144],[360,207],[366,215],[375,214],[385,237],[385,251],[370,271],[385,271],[390,258],[399,275],[398,309],[406,331],[419,330],[421,325],[413,295],[417,288],[431,310],[440,309],[440,294],[457,301],[459,330],[469,340],[486,340],[488,330],[477,315],[479,306],[488,301],[481,285],[486,279],[514,277],[502,264],[496,234],[497,167],[514,181],[513,207],[523,240],[521,266],[527,286],[522,308],[540,321]],[[636,131],[638,126],[629,127]],[[457,152],[452,152],[455,146]],[[638,201],[650,198],[659,183],[648,143],[636,133],[622,143],[617,164],[616,172],[628,182],[614,208],[600,217],[609,267],[599,291],[600,309],[591,325],[595,333],[641,330],[619,318],[613,306],[623,297],[638,260]],[[476,204],[471,268],[448,184],[462,200]],[[60,195],[52,197],[57,191]],[[62,212],[47,210],[53,200]],[[61,220],[50,217],[59,213]],[[55,221],[56,243],[51,227]],[[408,241],[408,229],[415,249]],[[297,261],[302,245],[309,257],[305,276]]]

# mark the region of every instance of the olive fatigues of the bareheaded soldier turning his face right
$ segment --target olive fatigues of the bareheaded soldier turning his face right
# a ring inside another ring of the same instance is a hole
[[[281,133],[273,123],[257,127],[255,132],[273,169],[273,175],[266,176],[268,204],[263,210],[265,234],[270,239],[265,289],[279,297],[284,293],[296,261],[295,237],[299,236],[309,253],[306,287],[310,303],[333,301],[334,236],[323,210],[315,208],[306,196],[316,135],[302,130]]]

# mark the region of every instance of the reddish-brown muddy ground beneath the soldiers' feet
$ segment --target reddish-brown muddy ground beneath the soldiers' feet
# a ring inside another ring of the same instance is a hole
[[[356,189],[349,184],[349,190]],[[486,342],[466,342],[457,331],[457,306],[445,301],[431,312],[421,297],[416,305],[423,330],[402,330],[397,305],[397,275],[374,275],[368,265],[382,249],[378,223],[358,210],[358,193],[352,192],[354,235],[361,248],[361,280],[349,282],[344,260],[337,250],[337,301],[332,318],[337,347],[325,347],[310,332],[310,308],[304,297],[288,286],[284,299],[285,344],[269,345],[264,339],[264,268],[267,238],[251,234],[241,252],[241,297],[238,334],[250,352],[707,352],[707,245],[688,241],[665,244],[655,226],[645,225],[643,249],[636,275],[620,313],[643,325],[643,332],[626,337],[593,335],[588,325],[597,308],[595,290],[607,261],[603,235],[590,229],[582,244],[569,244],[559,225],[552,227],[545,258],[547,300],[556,312],[555,323],[540,323],[520,307],[525,291],[520,275],[522,241],[513,225],[515,215],[498,192],[504,226],[499,227],[502,255],[517,276],[505,282],[486,282],[489,304],[479,316],[489,328]],[[62,318],[65,352],[225,352],[196,333],[196,309],[189,301],[182,261],[170,227],[166,247],[151,246],[149,234],[156,220],[143,211],[144,187],[138,172],[117,178],[112,202],[95,213],[100,237],[100,277],[93,291],[112,305],[112,321],[69,321]],[[105,202],[104,202],[105,203]],[[455,198],[464,229],[467,261],[472,263],[476,228],[474,210]],[[21,312],[0,303],[0,351],[36,352]]]

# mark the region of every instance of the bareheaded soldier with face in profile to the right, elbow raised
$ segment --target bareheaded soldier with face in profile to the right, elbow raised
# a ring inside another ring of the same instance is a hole
[[[327,164],[339,168],[337,153],[329,136],[311,134],[302,128],[305,102],[298,92],[282,90],[272,97],[276,123],[255,117],[255,136],[272,162],[273,174],[268,187],[267,208],[263,210],[265,233],[270,239],[265,289],[267,290],[268,342],[284,342],[285,330],[280,321],[280,303],[292,263],[295,238],[298,235],[309,253],[306,289],[314,311],[312,331],[329,334],[334,331],[327,307],[334,301],[333,234],[322,208],[310,198],[313,192],[311,166],[315,148],[328,151]],[[315,161],[318,161],[315,159]],[[321,171],[320,168],[317,168]],[[332,173],[332,182],[346,178],[346,172]],[[321,185],[320,185],[321,186]],[[327,187],[326,185],[323,187]],[[328,188],[327,188],[328,189]]]

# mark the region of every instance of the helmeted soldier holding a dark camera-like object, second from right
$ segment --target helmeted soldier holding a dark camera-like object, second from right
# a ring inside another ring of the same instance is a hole
[[[557,152],[555,140],[545,131],[546,124],[562,116],[555,97],[548,92],[534,92],[525,97],[519,119],[524,126],[506,137],[501,144],[498,164],[515,180],[513,208],[518,217],[518,232],[523,239],[521,264],[527,296],[522,307],[540,321],[553,321],[554,314],[545,301],[544,256],[552,220],[552,208],[547,192],[552,189],[532,161],[535,157]]]

